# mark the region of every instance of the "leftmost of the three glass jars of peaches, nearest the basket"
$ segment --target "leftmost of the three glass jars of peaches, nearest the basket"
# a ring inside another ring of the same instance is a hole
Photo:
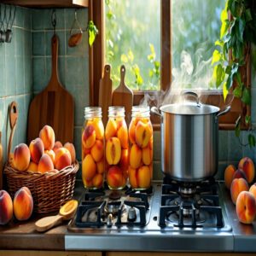
[[[105,172],[102,108],[86,107],[84,119],[82,131],[83,183],[87,189],[100,189],[103,186]]]

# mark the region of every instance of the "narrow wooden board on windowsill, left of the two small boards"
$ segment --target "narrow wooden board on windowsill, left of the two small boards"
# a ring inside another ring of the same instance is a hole
[[[111,66],[105,65],[103,78],[100,80],[99,107],[102,107],[102,121],[104,126],[108,121],[108,107],[112,104],[112,80],[110,79]]]

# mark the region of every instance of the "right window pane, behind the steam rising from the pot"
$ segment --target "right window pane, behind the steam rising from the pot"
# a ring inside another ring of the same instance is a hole
[[[210,58],[224,4],[224,0],[172,0],[172,88],[209,88]]]

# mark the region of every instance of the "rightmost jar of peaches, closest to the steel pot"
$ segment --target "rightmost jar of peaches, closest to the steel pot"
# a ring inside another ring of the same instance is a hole
[[[153,175],[153,127],[149,107],[132,107],[129,126],[129,181],[132,189],[148,189]]]

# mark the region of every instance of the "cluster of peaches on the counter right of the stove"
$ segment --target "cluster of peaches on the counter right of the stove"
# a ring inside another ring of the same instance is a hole
[[[244,157],[239,161],[238,168],[230,165],[224,172],[224,182],[233,203],[236,214],[243,224],[252,224],[256,217],[256,183],[253,183],[255,169],[253,160]]]

